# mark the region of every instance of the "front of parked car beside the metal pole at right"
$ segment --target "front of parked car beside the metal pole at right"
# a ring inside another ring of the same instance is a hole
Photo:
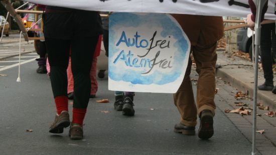
[[[252,61],[252,36],[253,31],[247,27],[240,28],[237,33],[237,46],[242,52],[249,53],[249,57]],[[259,62],[260,62],[260,52],[259,52]]]

